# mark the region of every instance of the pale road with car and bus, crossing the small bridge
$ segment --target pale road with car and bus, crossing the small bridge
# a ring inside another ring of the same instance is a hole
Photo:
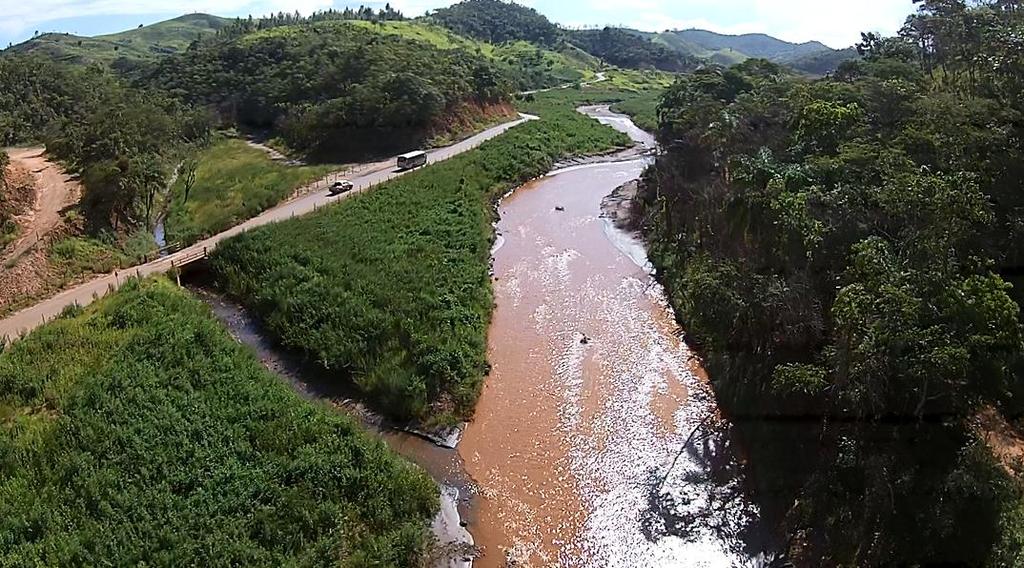
[[[429,156],[427,162],[429,164],[433,164],[435,162],[447,160],[449,158],[470,150],[484,141],[494,138],[495,136],[503,134],[514,126],[518,126],[530,120],[537,120],[538,118],[530,115],[520,115],[520,117],[521,118],[519,120],[484,130],[483,132],[480,132],[479,134],[467,138],[459,143],[430,150],[428,152]],[[15,312],[7,318],[0,320],[0,342],[4,341],[5,338],[6,340],[11,340],[31,332],[45,321],[52,319],[69,305],[77,303],[84,306],[92,302],[94,299],[117,289],[126,277],[147,276],[151,274],[167,272],[173,266],[180,264],[182,261],[187,261],[188,259],[201,256],[204,251],[213,251],[217,244],[225,238],[245,232],[253,227],[304,215],[330,203],[345,199],[353,193],[365,191],[374,185],[402,175],[401,173],[394,171],[391,167],[393,164],[393,160],[386,160],[374,164],[366,164],[356,168],[351,173],[351,177],[349,178],[354,185],[354,189],[343,195],[329,196],[326,191],[318,191],[283,203],[273,209],[264,211],[257,217],[254,217],[214,236],[201,241],[191,247],[182,249],[172,255],[163,257],[153,262],[141,264],[139,266],[119,270],[113,274],[97,276],[75,288],[66,290],[52,298],[43,300],[32,307]]]

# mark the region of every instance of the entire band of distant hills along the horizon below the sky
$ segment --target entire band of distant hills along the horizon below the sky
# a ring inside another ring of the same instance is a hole
[[[279,14],[240,20],[194,13],[118,34],[79,37],[43,34],[6,52],[39,53],[68,62],[100,62],[136,72],[164,55],[181,53],[197,39],[219,31],[225,40],[282,25],[325,20],[364,21],[364,28],[442,49],[461,48],[496,58],[521,88],[552,86],[585,78],[601,61],[629,69],[685,72],[708,61],[731,65],[763,57],[797,71],[823,75],[856,57],[820,42],[790,43],[765,34],[729,36],[705,30],[663,33],[625,28],[566,30],[537,10],[504,0],[464,0],[407,20],[400,12],[369,8],[328,10],[309,17]],[[134,74],[134,73],[133,73]]]

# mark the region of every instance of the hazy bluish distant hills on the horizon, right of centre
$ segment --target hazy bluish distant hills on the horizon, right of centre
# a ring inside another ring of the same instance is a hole
[[[816,41],[791,43],[765,34],[730,36],[707,30],[635,33],[682,54],[726,65],[761,57],[804,73],[823,75],[835,71],[841,62],[857,56],[852,48],[833,49]]]

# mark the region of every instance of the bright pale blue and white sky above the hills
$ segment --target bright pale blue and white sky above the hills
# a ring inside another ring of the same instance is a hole
[[[455,0],[392,0],[406,15],[422,15]],[[365,0],[369,6],[383,2]],[[567,27],[627,26],[649,32],[699,28],[723,34],[765,33],[836,48],[860,32],[895,33],[913,11],[911,0],[519,0]],[[0,0],[0,47],[36,32],[93,36],[154,24],[188,12],[254,16],[309,14],[357,6],[345,0]]]

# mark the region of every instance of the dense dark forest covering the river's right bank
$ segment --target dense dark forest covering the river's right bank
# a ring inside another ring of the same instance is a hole
[[[977,564],[1019,538],[968,422],[1024,394],[1022,25],[926,1],[833,78],[751,60],[662,102],[652,257],[761,481],[787,472],[766,493],[803,554]]]

